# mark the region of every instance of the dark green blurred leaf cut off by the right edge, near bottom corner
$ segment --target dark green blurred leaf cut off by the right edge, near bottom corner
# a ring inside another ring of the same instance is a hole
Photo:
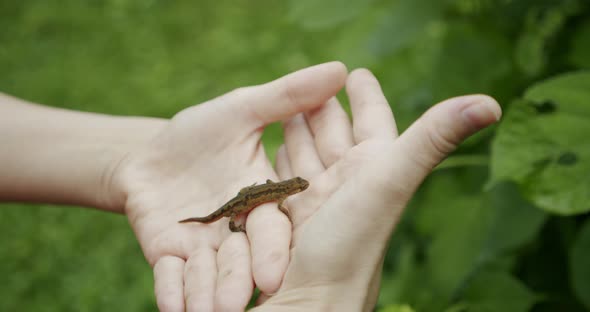
[[[570,268],[574,293],[590,309],[590,220],[586,221],[572,246]]]

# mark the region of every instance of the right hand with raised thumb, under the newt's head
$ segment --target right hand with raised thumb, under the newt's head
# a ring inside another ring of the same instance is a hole
[[[482,95],[432,107],[398,137],[379,83],[367,70],[347,81],[354,124],[335,99],[285,124],[276,169],[301,176],[290,197],[294,234],[283,284],[259,311],[372,311],[391,232],[431,170],[474,132],[496,122]]]

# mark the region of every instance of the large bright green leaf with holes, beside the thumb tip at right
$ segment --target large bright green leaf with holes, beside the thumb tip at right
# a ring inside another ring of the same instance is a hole
[[[590,73],[571,73],[527,90],[492,144],[491,183],[512,180],[540,208],[590,211]]]

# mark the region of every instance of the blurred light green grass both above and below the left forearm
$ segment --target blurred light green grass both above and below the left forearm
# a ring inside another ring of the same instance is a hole
[[[309,65],[293,48],[284,7],[256,6],[0,1],[0,90],[57,107],[170,117]],[[279,140],[276,125],[265,133],[271,153]],[[2,204],[0,237],[0,311],[156,309],[151,269],[123,216]]]

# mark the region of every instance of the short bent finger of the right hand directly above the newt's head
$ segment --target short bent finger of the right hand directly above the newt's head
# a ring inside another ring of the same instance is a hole
[[[315,142],[303,114],[298,114],[283,124],[285,146],[291,161],[293,174],[312,178],[324,171],[324,165],[315,148]]]

